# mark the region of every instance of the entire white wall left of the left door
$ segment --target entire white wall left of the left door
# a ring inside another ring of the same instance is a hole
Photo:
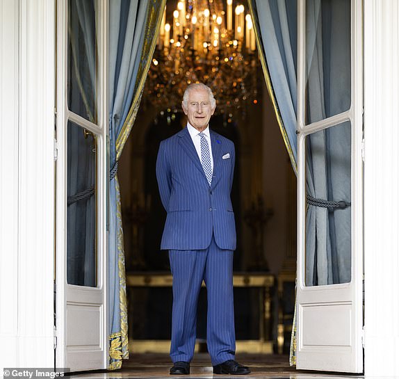
[[[52,0],[0,0],[0,366],[54,366]]]

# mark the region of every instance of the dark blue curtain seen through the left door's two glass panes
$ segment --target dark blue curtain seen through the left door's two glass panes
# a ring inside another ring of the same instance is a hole
[[[68,2],[68,108],[96,122],[97,37],[95,2]],[[67,282],[96,283],[96,140],[67,124]]]

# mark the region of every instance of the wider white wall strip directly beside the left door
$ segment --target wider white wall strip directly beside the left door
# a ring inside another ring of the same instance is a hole
[[[55,3],[19,3],[19,364],[52,366]]]

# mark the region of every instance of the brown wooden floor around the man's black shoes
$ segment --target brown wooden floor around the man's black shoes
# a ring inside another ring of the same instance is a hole
[[[97,371],[72,374],[71,378],[364,378],[364,376],[339,373],[320,373],[316,371],[300,371],[288,364],[287,355],[237,355],[236,360],[250,366],[252,373],[246,376],[213,375],[209,355],[198,353],[190,365],[189,376],[170,376],[170,357],[166,354],[131,354],[124,361],[122,369],[117,371]]]

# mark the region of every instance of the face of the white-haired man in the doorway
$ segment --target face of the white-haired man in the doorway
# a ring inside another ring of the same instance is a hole
[[[211,106],[211,99],[209,99],[209,92],[205,89],[190,90],[188,92],[187,107],[181,104],[184,113],[187,115],[188,122],[190,122],[195,129],[203,131],[208,126],[209,119],[216,106]]]

